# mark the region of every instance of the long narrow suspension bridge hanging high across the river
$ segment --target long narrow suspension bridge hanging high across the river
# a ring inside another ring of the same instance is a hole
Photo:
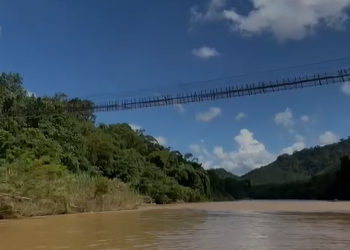
[[[238,98],[244,96],[268,94],[286,90],[296,90],[307,87],[325,86],[350,82],[350,69],[340,69],[331,73],[314,74],[293,79],[280,79],[268,82],[257,82],[229,86],[225,88],[211,88],[201,91],[184,92],[180,94],[165,94],[159,96],[149,96],[137,99],[124,99],[109,102],[101,102],[89,107],[76,107],[70,105],[68,112],[93,110],[94,112],[110,112],[143,109],[159,106],[171,106],[187,103],[215,101],[219,99]]]

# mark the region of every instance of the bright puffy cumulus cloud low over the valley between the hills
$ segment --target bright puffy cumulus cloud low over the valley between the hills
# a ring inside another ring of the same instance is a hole
[[[244,174],[257,167],[264,166],[276,159],[276,156],[268,152],[265,145],[254,139],[254,134],[247,129],[240,130],[234,137],[234,142],[238,146],[237,150],[225,152],[221,146],[215,146],[212,153],[201,157],[210,162],[210,168],[224,168],[235,174]],[[200,149],[199,153],[205,149],[201,147],[191,147],[190,149]],[[192,152],[197,153],[195,150]]]

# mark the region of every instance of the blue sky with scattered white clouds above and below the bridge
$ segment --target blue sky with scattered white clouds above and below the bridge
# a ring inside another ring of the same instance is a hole
[[[350,0],[1,0],[0,71],[20,73],[37,96],[96,102],[332,73],[350,59],[291,67],[350,56],[349,7]],[[97,121],[145,129],[205,168],[240,175],[279,154],[348,138],[349,104],[350,83],[338,83],[99,113]]]

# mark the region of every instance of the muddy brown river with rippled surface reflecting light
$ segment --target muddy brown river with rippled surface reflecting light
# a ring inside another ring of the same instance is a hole
[[[0,250],[350,249],[350,203],[242,201],[0,221]]]

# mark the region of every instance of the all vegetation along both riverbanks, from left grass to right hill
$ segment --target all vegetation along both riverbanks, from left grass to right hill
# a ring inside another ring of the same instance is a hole
[[[134,209],[143,202],[350,200],[350,138],[281,155],[241,177],[205,170],[128,124],[96,124],[63,93],[35,97],[0,74],[0,218]]]

